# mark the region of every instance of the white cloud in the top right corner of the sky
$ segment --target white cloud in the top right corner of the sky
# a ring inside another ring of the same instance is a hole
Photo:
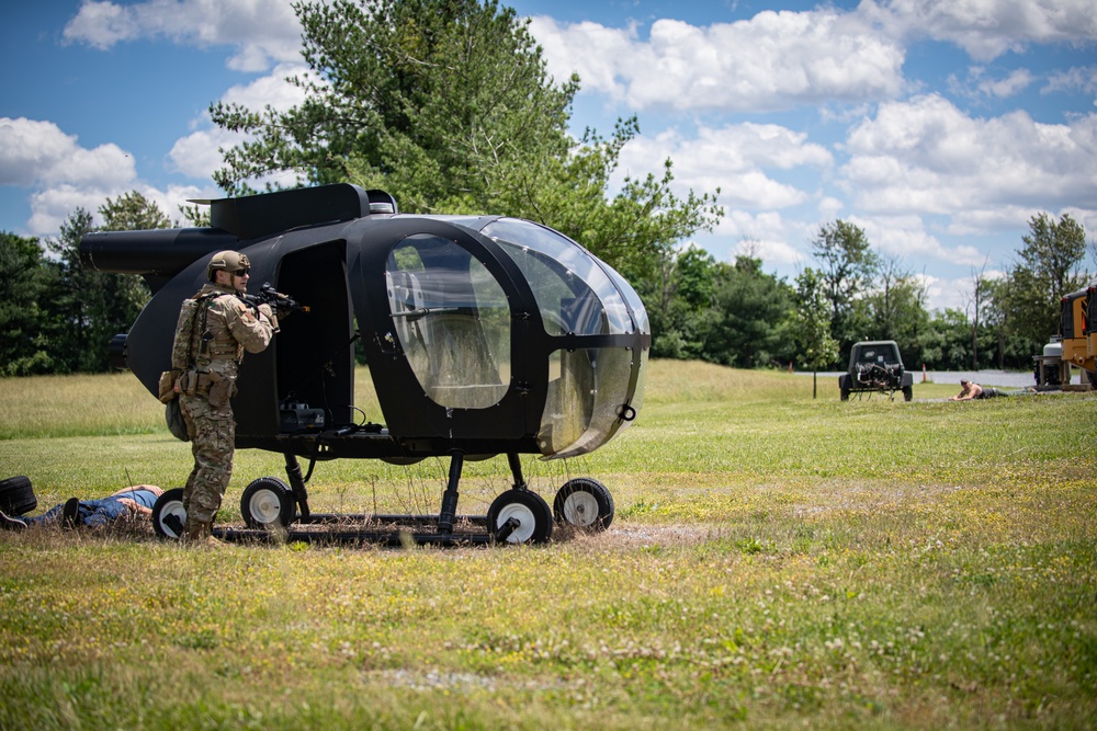
[[[1097,41],[1093,0],[862,0],[856,14],[897,39],[948,41],[981,61],[1031,43]]]

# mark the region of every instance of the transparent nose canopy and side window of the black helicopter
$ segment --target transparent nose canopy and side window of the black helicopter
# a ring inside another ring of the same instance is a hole
[[[493,409],[523,380],[546,381],[536,433],[542,455],[569,457],[604,444],[643,398],[647,349],[636,345],[651,327],[635,290],[552,229],[514,218],[443,218],[505,252],[540,317],[528,318],[529,332],[516,329],[512,300],[520,297],[457,241],[404,238],[386,263],[389,316],[427,398],[446,410]],[[523,363],[542,373],[523,379]]]

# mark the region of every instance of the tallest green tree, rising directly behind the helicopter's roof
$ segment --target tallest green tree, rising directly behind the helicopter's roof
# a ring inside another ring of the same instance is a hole
[[[410,213],[496,213],[546,224],[637,276],[722,215],[715,199],[676,196],[661,174],[625,178],[610,199],[622,121],[610,138],[568,135],[573,76],[556,83],[541,48],[494,0],[335,0],[294,4],[310,73],[289,111],[216,104],[213,121],[249,141],[223,150],[230,194],[272,175],[352,182]]]

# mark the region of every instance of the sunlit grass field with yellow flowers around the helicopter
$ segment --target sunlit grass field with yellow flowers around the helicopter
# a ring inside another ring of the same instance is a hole
[[[811,388],[653,363],[620,438],[523,459],[550,502],[570,475],[617,502],[545,547],[0,534],[0,729],[1094,728],[1097,396]],[[0,464],[41,511],[178,487],[190,452],[129,375],[7,379]],[[483,512],[506,460],[466,467]],[[309,491],[437,512],[445,470],[326,462]],[[238,453],[219,522],[282,471]]]

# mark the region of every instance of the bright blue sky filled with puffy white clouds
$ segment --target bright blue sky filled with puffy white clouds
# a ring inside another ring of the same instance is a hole
[[[861,226],[966,305],[1008,267],[1028,219],[1097,239],[1093,0],[521,0],[550,70],[581,78],[573,129],[637,115],[634,175],[725,216],[694,238],[791,277],[821,224]],[[169,216],[218,197],[217,101],[287,106],[299,27],[284,0],[7,3],[0,10],[0,229],[48,237],[78,206],[138,190]],[[1097,269],[1093,259],[1089,271]]]

